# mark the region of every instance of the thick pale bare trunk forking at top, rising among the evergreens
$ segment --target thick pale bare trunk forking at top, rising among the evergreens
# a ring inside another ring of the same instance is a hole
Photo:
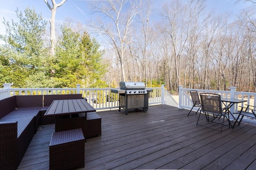
[[[56,10],[58,7],[62,6],[66,0],[62,0],[59,4],[56,4],[55,0],[52,0],[52,7],[48,3],[47,0],[44,0],[44,2],[47,4],[48,8],[51,10],[51,19],[50,19],[50,41],[51,41],[51,48],[50,48],[50,55],[55,54],[55,41],[56,41],[56,35],[55,35],[55,16],[56,16]]]

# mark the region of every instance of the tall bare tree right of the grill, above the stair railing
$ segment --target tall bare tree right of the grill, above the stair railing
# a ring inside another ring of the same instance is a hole
[[[168,33],[170,37],[170,44],[172,45],[172,58],[174,60],[175,70],[175,91],[178,92],[178,86],[181,84],[181,68],[184,65],[184,86],[186,86],[186,66],[187,63],[182,60],[184,59],[184,51],[188,45],[188,41],[191,40],[190,35],[194,27],[199,29],[203,28],[196,25],[199,20],[198,17],[201,15],[202,10],[205,8],[204,1],[202,0],[191,0],[189,4],[183,4],[180,1],[172,1],[170,4],[163,7],[163,14],[167,27],[164,31]],[[197,31],[194,29],[194,32]],[[196,36],[195,34],[192,36]],[[192,37],[193,41],[196,41],[196,37]]]

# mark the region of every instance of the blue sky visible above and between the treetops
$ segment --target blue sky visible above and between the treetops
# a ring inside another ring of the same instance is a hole
[[[67,0],[61,7],[57,9],[56,13],[56,21],[63,21],[67,17],[74,18],[74,20],[79,20],[81,23],[86,24],[88,20],[91,20],[91,15],[89,14],[89,10],[87,8],[88,0]],[[164,2],[169,2],[172,0],[155,0],[155,8],[160,9]],[[52,6],[51,0],[48,0],[49,4]],[[61,2],[61,0],[56,0],[57,3]],[[207,6],[209,10],[215,9],[216,13],[223,12],[232,12],[235,17],[236,14],[243,8],[252,3],[244,3],[239,2],[235,4],[236,0],[206,0]],[[24,9],[26,7],[30,7],[31,9],[35,8],[38,14],[42,13],[42,16],[46,21],[50,19],[50,9],[44,2],[44,0],[0,0],[0,34],[5,33],[5,26],[2,23],[3,17],[6,21],[18,21],[16,17],[16,9],[24,13]]]

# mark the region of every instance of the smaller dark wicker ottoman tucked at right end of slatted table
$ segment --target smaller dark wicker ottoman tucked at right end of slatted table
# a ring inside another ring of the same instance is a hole
[[[101,117],[96,113],[87,114],[86,120],[86,137],[101,136]]]

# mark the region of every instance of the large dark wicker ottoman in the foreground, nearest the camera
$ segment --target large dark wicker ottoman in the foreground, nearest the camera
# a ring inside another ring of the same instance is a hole
[[[52,133],[49,145],[50,170],[84,167],[84,142],[81,128]]]

